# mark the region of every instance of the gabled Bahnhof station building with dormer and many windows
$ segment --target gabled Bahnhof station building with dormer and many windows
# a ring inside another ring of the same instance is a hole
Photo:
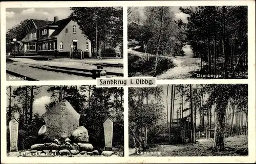
[[[87,57],[92,56],[91,41],[71,18],[58,20],[58,17],[54,17],[54,21],[30,19],[26,32],[23,40],[9,43],[12,45],[12,53],[15,50],[18,56],[69,57],[71,51],[77,50],[81,50]]]

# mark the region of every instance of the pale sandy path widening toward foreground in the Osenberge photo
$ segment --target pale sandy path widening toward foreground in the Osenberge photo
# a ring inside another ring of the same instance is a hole
[[[193,58],[193,50],[189,45],[182,47],[185,53],[184,57],[172,57],[173,62],[177,65],[166,72],[157,76],[160,79],[187,79],[191,78],[191,72],[200,70],[200,58]]]

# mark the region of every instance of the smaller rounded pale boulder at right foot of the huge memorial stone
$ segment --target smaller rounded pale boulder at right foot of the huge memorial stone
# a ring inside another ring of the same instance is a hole
[[[72,139],[77,143],[89,142],[88,130],[83,126],[79,126],[73,131]]]

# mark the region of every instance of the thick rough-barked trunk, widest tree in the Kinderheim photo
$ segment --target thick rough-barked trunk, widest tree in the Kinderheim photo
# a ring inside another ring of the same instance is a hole
[[[228,97],[226,94],[221,95],[216,106],[216,125],[214,133],[214,144],[212,150],[223,151],[225,148],[225,113],[228,104]]]

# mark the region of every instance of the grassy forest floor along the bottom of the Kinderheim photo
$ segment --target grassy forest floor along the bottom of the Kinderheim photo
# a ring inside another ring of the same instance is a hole
[[[194,143],[179,145],[156,145],[143,152],[160,152],[154,156],[248,156],[248,136],[232,136],[225,138],[225,151],[215,152],[210,149],[213,140],[200,139]],[[137,155],[131,156],[152,156]]]

